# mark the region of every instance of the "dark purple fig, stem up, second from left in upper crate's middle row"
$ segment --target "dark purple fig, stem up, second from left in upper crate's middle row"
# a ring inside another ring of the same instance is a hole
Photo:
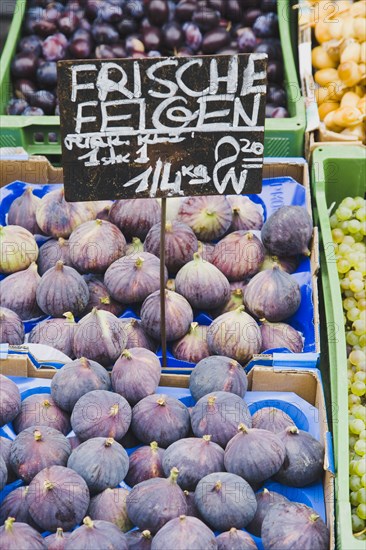
[[[88,285],[72,267],[58,261],[42,276],[37,287],[37,303],[44,313],[62,317],[65,311],[79,315],[88,303]]]

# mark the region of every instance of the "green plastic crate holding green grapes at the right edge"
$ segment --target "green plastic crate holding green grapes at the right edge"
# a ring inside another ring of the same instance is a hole
[[[317,147],[312,158],[312,189],[315,197],[315,223],[320,226],[320,267],[327,323],[332,414],[336,462],[337,547],[340,550],[365,550],[365,541],[352,534],[349,501],[348,454],[348,379],[346,335],[342,297],[334,246],[329,224],[329,209],[348,196],[364,196],[366,149],[361,146]]]

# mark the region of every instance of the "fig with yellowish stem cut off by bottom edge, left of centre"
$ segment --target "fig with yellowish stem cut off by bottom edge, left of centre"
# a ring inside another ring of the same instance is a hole
[[[84,518],[83,525],[71,533],[65,544],[65,550],[79,548],[128,550],[125,535],[116,525],[109,521],[93,521],[89,517]]]

